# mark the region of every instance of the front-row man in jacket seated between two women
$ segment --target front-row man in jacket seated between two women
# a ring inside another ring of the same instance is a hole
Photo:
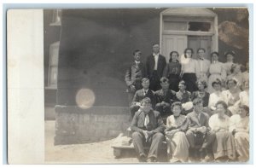
[[[195,98],[193,106],[194,111],[187,115],[189,129],[186,132],[186,136],[189,141],[189,157],[210,161],[213,159],[212,142],[214,142],[216,136],[208,125],[208,114],[202,112],[202,100]]]

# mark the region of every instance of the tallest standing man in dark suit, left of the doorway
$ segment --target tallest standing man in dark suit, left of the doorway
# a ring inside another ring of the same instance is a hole
[[[158,43],[153,45],[153,54],[149,55],[146,61],[147,75],[150,80],[150,90],[160,90],[160,78],[163,76],[166,67],[166,57],[160,55]]]

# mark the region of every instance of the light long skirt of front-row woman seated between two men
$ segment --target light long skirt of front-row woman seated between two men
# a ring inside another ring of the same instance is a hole
[[[189,142],[184,132],[178,131],[174,136],[166,135],[167,154],[172,160],[187,162],[189,159]]]

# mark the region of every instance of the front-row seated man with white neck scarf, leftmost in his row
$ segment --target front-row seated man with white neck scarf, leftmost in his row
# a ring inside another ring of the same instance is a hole
[[[142,101],[142,106],[135,113],[131,122],[132,141],[137,152],[139,161],[156,162],[160,146],[164,141],[163,131],[165,125],[160,117],[160,113],[152,109],[151,101],[148,97]],[[143,145],[150,145],[148,160],[144,152]]]

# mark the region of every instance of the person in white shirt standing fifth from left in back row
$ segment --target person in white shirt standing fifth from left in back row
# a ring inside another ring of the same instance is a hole
[[[208,76],[209,76],[209,67],[211,62],[205,59],[206,49],[199,48],[197,49],[197,54],[199,56],[197,60],[197,67],[198,67],[198,74],[196,75],[198,78],[197,80],[204,80],[208,83]]]

